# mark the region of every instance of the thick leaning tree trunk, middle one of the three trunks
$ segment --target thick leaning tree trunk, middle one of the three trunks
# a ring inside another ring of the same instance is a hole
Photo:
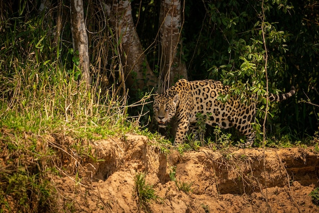
[[[129,88],[154,87],[158,79],[150,69],[139,36],[132,19],[131,1],[105,1],[105,8],[116,29],[125,73],[125,84]]]

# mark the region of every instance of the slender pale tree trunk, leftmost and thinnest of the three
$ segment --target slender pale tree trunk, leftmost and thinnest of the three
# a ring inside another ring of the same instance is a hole
[[[71,31],[74,52],[78,50],[81,79],[90,88],[90,59],[88,34],[84,22],[83,0],[70,0]]]

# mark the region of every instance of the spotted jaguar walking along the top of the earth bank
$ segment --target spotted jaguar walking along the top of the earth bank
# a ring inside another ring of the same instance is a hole
[[[295,94],[295,87],[283,94],[269,93],[270,101],[282,101]],[[205,123],[211,126],[218,125],[220,128],[235,127],[246,136],[246,143],[241,147],[253,145],[256,133],[252,128],[255,120],[256,101],[251,100],[249,104],[241,102],[237,96],[222,101],[220,95],[229,93],[229,86],[219,81],[200,80],[187,81],[179,79],[174,86],[162,94],[157,94],[153,101],[154,117],[159,127],[166,127],[175,116],[177,129],[174,144],[184,142],[190,131],[198,138],[196,123],[198,114],[205,115]],[[253,98],[251,98],[253,99]]]

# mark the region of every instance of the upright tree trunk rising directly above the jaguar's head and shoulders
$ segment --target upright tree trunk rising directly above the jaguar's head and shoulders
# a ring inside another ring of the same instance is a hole
[[[160,73],[160,91],[172,86],[177,79],[188,78],[187,69],[178,56],[178,48],[181,46],[181,1],[161,0],[159,23],[162,25],[161,47],[162,67]]]

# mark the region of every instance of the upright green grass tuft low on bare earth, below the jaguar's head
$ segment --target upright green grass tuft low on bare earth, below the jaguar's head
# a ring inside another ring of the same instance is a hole
[[[135,174],[135,197],[137,198],[138,208],[147,211],[149,203],[156,201],[159,197],[155,194],[153,186],[146,184],[145,177],[144,172]]]

